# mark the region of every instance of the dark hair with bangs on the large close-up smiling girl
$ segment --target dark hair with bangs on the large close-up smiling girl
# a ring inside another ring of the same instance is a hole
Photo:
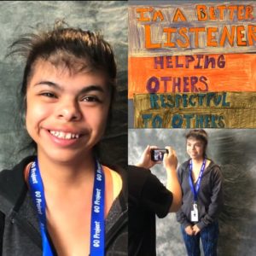
[[[56,21],[53,29],[24,34],[10,45],[9,55],[26,58],[20,88],[22,115],[26,113],[26,88],[40,60],[49,61],[55,67],[67,68],[70,73],[102,72],[106,75],[110,91],[110,107],[107,127],[111,123],[113,99],[116,91],[116,62],[113,49],[99,32],[64,27]]]

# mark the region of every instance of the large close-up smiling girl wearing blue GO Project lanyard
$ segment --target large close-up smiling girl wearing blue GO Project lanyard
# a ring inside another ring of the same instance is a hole
[[[0,173],[0,255],[123,255],[124,173],[95,150],[111,117],[113,49],[61,26],[12,47],[26,56],[21,95],[37,154]]]

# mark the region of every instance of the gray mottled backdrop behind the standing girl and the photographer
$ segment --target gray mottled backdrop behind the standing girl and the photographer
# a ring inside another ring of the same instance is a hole
[[[188,159],[183,129],[129,130],[129,164],[136,164],[147,145],[171,145],[179,164]],[[207,130],[207,155],[217,162],[224,175],[224,211],[220,216],[218,255],[256,255],[256,130]],[[151,170],[162,183],[166,172],[161,165]],[[176,215],[170,213],[157,222],[157,255],[186,255]]]

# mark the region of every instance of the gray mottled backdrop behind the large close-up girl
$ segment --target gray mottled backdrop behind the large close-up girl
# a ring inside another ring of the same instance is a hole
[[[64,19],[69,26],[100,31],[113,45],[118,63],[118,96],[112,131],[102,148],[108,160],[125,166],[127,158],[127,3],[121,1],[3,1],[0,3],[0,170],[13,166],[26,151],[25,132],[19,119],[17,93],[24,63],[5,58],[9,44],[38,27]],[[108,145],[108,147],[106,146]]]

